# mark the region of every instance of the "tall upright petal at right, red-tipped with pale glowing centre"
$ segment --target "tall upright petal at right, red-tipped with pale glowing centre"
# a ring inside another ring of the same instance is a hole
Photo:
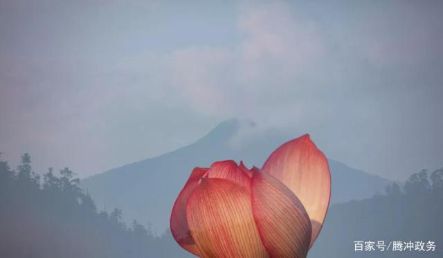
[[[325,155],[306,134],[278,147],[264,163],[262,172],[277,178],[300,199],[311,219],[312,246],[331,195],[331,174]]]

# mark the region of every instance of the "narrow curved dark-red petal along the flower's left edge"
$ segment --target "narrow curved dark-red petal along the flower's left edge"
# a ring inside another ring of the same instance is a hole
[[[194,239],[190,234],[188,221],[186,220],[186,203],[190,194],[195,190],[201,176],[208,171],[207,168],[195,167],[186,182],[185,187],[181,190],[174,207],[171,212],[170,227],[172,236],[179,245],[194,255],[199,255]]]

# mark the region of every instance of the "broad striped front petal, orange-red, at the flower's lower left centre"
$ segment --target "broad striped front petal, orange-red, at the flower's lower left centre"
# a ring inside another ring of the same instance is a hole
[[[186,205],[201,257],[267,257],[246,188],[221,178],[202,178]]]

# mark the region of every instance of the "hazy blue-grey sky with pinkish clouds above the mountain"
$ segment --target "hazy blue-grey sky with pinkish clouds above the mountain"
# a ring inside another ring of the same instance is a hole
[[[2,158],[85,177],[240,118],[387,178],[443,166],[442,1],[183,2],[0,1]]]

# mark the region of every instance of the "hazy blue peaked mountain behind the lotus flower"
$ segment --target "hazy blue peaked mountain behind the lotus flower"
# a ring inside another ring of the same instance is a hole
[[[91,176],[82,181],[82,187],[99,209],[121,208],[127,222],[137,219],[159,233],[168,228],[174,200],[193,167],[208,167],[225,159],[261,167],[271,151],[297,136],[260,131],[252,122],[227,120],[191,145]],[[332,203],[368,198],[383,192],[389,183],[335,160],[329,160],[329,165]]]

